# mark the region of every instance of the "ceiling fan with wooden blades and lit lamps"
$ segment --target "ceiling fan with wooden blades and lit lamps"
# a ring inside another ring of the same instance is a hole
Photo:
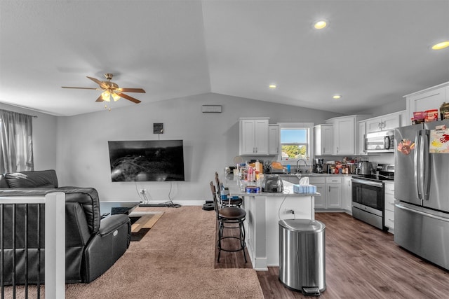
[[[107,81],[100,81],[96,78],[87,77],[91,79],[93,82],[97,83],[100,88],[76,88],[76,89],[85,89],[85,90],[102,90],[102,94],[95,102],[110,102],[111,98],[114,101],[118,101],[121,97],[123,99],[128,99],[131,102],[134,102],[135,104],[139,104],[141,101],[138,99],[135,99],[134,97],[130,97],[129,95],[124,94],[123,92],[141,92],[145,93],[145,90],[142,90],[142,88],[119,88],[119,85],[112,82],[112,74],[105,74],[105,77]],[[73,88],[73,87],[67,87],[62,86],[62,88]]]

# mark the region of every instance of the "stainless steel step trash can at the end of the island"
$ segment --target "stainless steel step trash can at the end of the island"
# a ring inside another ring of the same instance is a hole
[[[279,221],[279,280],[304,295],[326,290],[326,225],[320,221]]]

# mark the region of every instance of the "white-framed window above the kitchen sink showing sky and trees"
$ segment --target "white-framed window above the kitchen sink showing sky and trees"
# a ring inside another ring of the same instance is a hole
[[[280,124],[281,160],[309,160],[313,124]]]

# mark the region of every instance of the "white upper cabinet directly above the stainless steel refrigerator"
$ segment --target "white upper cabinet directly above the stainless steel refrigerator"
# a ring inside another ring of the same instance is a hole
[[[414,92],[404,97],[407,101],[408,118],[403,125],[411,125],[410,119],[413,118],[413,112],[440,109],[443,102],[449,102],[449,82]]]

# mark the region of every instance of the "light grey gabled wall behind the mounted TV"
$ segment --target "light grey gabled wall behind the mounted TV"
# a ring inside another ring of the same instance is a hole
[[[220,104],[222,113],[201,113],[203,104]],[[210,200],[215,171],[222,174],[239,155],[239,118],[318,124],[335,116],[340,114],[208,93],[58,118],[58,179],[60,186],[94,187],[100,200],[140,200],[136,189],[147,188],[153,202],[165,202],[169,192],[175,202],[203,202]],[[163,134],[153,134],[153,123],[163,123]],[[111,182],[107,141],[158,138],[184,140],[186,181]]]

